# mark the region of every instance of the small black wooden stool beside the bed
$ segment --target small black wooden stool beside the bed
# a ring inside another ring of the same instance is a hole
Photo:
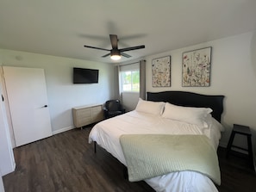
[[[247,136],[247,146],[248,146],[247,149],[242,148],[240,146],[234,146],[233,145],[234,135],[235,134],[242,134],[242,135]],[[240,149],[240,150],[248,152],[248,158],[249,158],[250,164],[253,166],[252,133],[251,133],[249,127],[234,124],[231,136],[230,136],[230,138],[228,140],[228,147],[227,147],[226,158],[228,158],[229,152],[232,151],[231,147],[234,147],[234,148],[237,148],[237,149]]]

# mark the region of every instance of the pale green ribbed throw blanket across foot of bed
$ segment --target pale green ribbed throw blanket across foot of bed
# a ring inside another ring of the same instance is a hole
[[[192,170],[221,184],[217,154],[204,135],[125,134],[120,142],[130,182]]]

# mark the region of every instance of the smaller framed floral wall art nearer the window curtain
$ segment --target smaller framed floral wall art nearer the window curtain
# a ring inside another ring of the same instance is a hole
[[[171,56],[152,60],[153,87],[171,87]]]

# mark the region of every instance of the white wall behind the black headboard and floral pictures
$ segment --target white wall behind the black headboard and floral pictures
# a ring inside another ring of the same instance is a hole
[[[172,42],[170,42],[172,43]],[[212,46],[211,83],[209,87],[182,87],[182,53],[198,48]],[[172,86],[153,88],[152,59],[171,55]],[[148,56],[147,91],[186,90],[202,94],[224,95],[222,124],[226,132],[222,134],[221,145],[228,143],[234,123],[251,127],[253,144],[256,133],[256,32],[240,34],[221,40],[213,40],[195,46],[184,47],[166,53]],[[246,146],[241,137],[234,142]],[[254,147],[255,149],[256,147]]]

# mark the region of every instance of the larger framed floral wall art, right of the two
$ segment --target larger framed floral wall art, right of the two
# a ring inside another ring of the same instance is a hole
[[[209,87],[211,46],[183,53],[182,86]]]

